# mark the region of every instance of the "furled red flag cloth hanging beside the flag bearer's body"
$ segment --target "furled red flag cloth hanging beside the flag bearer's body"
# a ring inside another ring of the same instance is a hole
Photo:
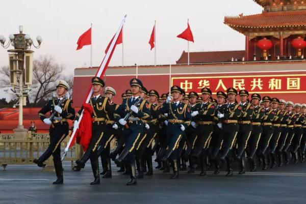
[[[75,139],[77,139],[77,143],[82,145],[84,152],[87,150],[90,139],[91,139],[91,129],[92,129],[92,121],[91,114],[93,113],[93,108],[90,104],[83,102],[83,118],[80,122],[79,128],[77,132],[75,132],[75,137],[70,143],[71,148],[74,144]],[[72,133],[72,132],[71,132]]]

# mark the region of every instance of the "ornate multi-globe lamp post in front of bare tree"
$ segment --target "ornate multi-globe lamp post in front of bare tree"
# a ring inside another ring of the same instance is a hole
[[[22,125],[23,118],[23,110],[22,106],[24,104],[24,94],[23,94],[23,86],[25,82],[27,84],[32,84],[32,67],[33,67],[33,53],[34,51],[30,50],[32,46],[35,48],[39,48],[42,42],[42,38],[40,36],[36,37],[37,45],[34,44],[34,41],[31,39],[30,35],[23,34],[23,26],[19,25],[19,34],[11,34],[9,35],[9,41],[5,44],[6,39],[4,36],[0,35],[0,45],[4,48],[8,48],[10,45],[14,47],[14,49],[9,49],[8,52],[10,60],[10,83],[14,87],[17,86],[17,75],[19,78],[19,115],[18,115],[18,126],[14,129],[15,135],[20,135],[24,137],[27,133],[27,129],[24,129]],[[24,59],[24,56],[27,55],[27,60]],[[26,72],[24,72],[24,64],[27,68]],[[28,69],[28,68],[31,69]]]

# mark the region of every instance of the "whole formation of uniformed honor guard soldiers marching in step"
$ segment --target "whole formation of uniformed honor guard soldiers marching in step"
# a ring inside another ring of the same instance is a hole
[[[180,171],[195,173],[196,169],[199,176],[206,176],[209,167],[218,174],[221,164],[226,164],[226,177],[231,177],[235,162],[238,174],[244,174],[259,167],[266,170],[305,161],[306,104],[249,95],[247,90],[234,88],[217,92],[216,99],[208,88],[201,89],[201,96],[195,92],[187,95],[177,85],[160,95],[156,90],[147,91],[137,78],[131,79],[131,88],[121,95],[122,103],[115,104],[116,91],[104,86],[101,78],[93,77],[93,95],[75,115],[72,100],[65,98],[69,86],[61,80],[58,98],[39,111],[40,119],[50,125],[50,144],[34,162],[41,167],[53,155],[57,176],[53,184],[63,183],[60,143],[68,134],[67,120],[74,120],[73,128],[91,134],[84,155],[76,161],[82,169],[90,160],[91,185],[100,184],[100,175],[112,178],[111,160],[120,167],[118,172],[130,175],[126,185],[136,185],[137,179],[153,175],[155,154],[156,169],[167,173],[171,167],[171,179],[179,178]],[[82,111],[89,115],[82,119],[91,124],[88,127],[79,123]],[[47,112],[50,118],[46,118]],[[110,152],[112,139],[117,146]]]

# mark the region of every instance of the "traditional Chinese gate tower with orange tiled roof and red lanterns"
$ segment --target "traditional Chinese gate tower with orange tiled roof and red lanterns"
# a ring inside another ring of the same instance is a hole
[[[306,46],[306,1],[253,0],[261,14],[226,16],[224,23],[245,36],[245,60],[270,55],[301,57]]]

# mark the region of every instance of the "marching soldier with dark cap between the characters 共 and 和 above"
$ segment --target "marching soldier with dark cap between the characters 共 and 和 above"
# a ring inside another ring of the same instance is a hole
[[[259,144],[259,155],[263,159],[263,170],[268,168],[268,155],[267,148],[269,145],[269,141],[273,135],[273,120],[275,116],[275,111],[270,108],[271,98],[268,96],[263,97],[263,103],[265,108],[265,116],[263,119],[263,133],[260,138]]]

